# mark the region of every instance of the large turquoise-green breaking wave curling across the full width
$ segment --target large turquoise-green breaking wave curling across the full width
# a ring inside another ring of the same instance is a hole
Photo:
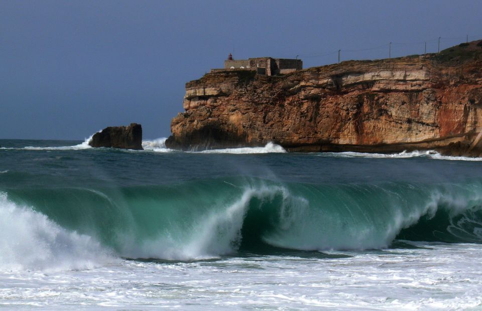
[[[205,180],[0,197],[0,267],[71,268],[285,250],[363,250],[396,239],[482,242],[482,184],[312,185]],[[92,256],[95,254],[95,256]]]

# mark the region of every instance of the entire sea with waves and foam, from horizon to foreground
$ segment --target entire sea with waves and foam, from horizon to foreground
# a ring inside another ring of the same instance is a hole
[[[0,140],[0,309],[482,309],[482,159]]]

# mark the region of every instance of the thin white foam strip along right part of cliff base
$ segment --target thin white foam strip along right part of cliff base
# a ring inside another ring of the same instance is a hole
[[[452,160],[452,161],[482,161],[482,158],[470,157],[451,157],[442,156],[435,150],[427,151],[402,151],[399,153],[368,153],[368,152],[326,152],[320,153],[323,157],[338,157],[338,158],[372,158],[372,159],[404,159],[404,158],[428,158],[434,160]]]

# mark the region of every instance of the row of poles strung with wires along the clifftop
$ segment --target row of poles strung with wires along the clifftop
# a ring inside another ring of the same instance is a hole
[[[303,60],[308,59],[308,63],[319,62],[320,60],[323,63],[336,63],[343,60],[393,58],[414,54],[422,55],[427,53],[438,53],[443,49],[460,43],[482,39],[481,37],[482,36],[465,35],[463,37],[439,37],[414,42],[389,42],[383,45],[363,49],[338,49],[320,53],[299,54],[296,58]],[[378,52],[370,53],[372,51]]]

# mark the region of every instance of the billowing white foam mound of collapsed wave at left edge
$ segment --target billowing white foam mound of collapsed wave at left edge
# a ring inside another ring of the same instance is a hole
[[[92,237],[68,231],[0,193],[0,271],[89,269],[114,259]]]

